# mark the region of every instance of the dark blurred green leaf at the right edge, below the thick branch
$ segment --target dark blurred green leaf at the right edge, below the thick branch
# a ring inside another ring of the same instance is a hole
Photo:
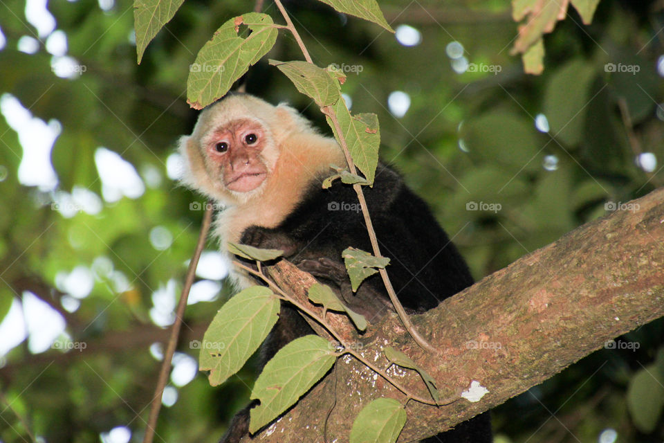
[[[642,433],[654,431],[664,407],[664,377],[656,365],[638,370],[627,386],[627,410]]]

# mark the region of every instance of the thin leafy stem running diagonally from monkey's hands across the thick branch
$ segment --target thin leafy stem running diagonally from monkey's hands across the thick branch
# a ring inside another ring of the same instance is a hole
[[[277,284],[275,282],[273,282],[272,280],[270,280],[270,278],[268,278],[262,271],[257,271],[255,269],[251,268],[250,266],[246,266],[246,264],[238,262],[237,260],[233,261],[233,265],[237,266],[240,269],[244,269],[248,273],[250,273],[252,275],[255,275],[256,277],[263,280],[266,284],[268,284],[268,287],[270,287],[270,289],[272,289],[273,291],[275,291],[279,294],[278,296],[281,300],[286,300],[287,302],[295,305],[295,307],[297,307],[297,309],[303,311],[307,316],[311,317],[316,323],[318,323],[322,327],[324,327],[327,330],[327,332],[329,332],[331,334],[331,336],[333,336],[335,338],[335,340],[338,341],[339,343],[341,343],[342,347],[344,347],[344,351],[341,352],[340,356],[343,355],[343,354],[352,355],[353,357],[358,359],[358,361],[360,361],[362,364],[367,365],[367,367],[369,367],[369,369],[371,369],[374,372],[376,372],[377,374],[379,374],[380,377],[387,380],[387,382],[390,383],[392,386],[394,386],[395,388],[397,388],[398,390],[403,392],[403,394],[407,397],[407,400],[408,399],[413,399],[415,401],[419,401],[420,403],[428,404],[428,405],[431,405],[431,406],[445,406],[445,404],[450,404],[450,403],[452,403],[452,401],[456,401],[456,400],[450,399],[449,403],[436,404],[435,401],[432,401],[432,400],[427,399],[425,397],[421,397],[419,395],[413,394],[412,392],[410,392],[408,390],[408,388],[405,388],[398,381],[396,381],[392,377],[390,377],[389,374],[387,374],[386,370],[382,370],[381,368],[378,368],[378,366],[376,366],[374,363],[371,363],[371,361],[366,359],[365,356],[362,356],[362,354],[360,354],[356,350],[353,350],[352,347],[349,346],[349,344],[346,343],[343,340],[343,338],[341,338],[341,336],[334,330],[334,328],[327,322],[327,320],[325,320],[324,317],[318,316],[308,306],[302,304],[298,300],[295,300],[295,298],[293,298],[292,296],[289,296],[288,293],[286,293],[286,291],[284,291],[279,286],[277,286]],[[445,400],[445,401],[447,401],[447,400]]]

